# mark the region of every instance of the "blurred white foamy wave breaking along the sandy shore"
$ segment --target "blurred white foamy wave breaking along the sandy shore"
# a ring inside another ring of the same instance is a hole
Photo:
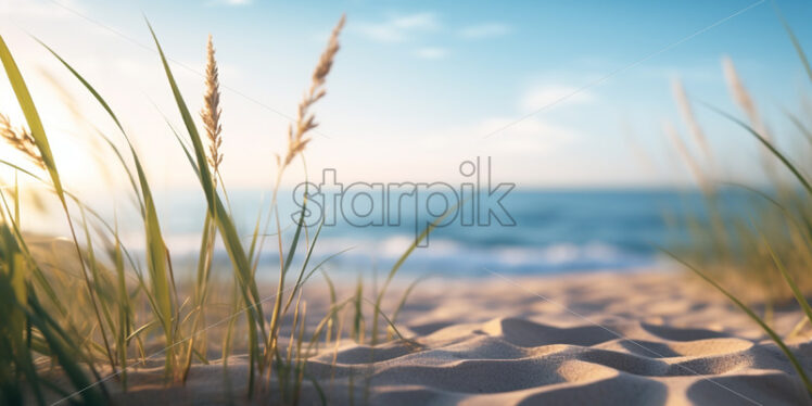
[[[129,249],[142,251],[138,236],[125,238]],[[266,240],[261,257],[259,274],[271,274],[278,269],[279,257],[275,250],[276,237]],[[274,239],[274,240],[271,240]],[[414,243],[409,234],[394,234],[385,238],[326,237],[316,244],[313,264],[322,258],[343,252],[329,262],[331,270],[366,272],[378,269],[388,271],[391,266]],[[166,244],[178,261],[194,261],[200,250],[200,236],[195,233],[170,234]],[[300,248],[304,250],[304,248]],[[228,256],[225,248],[215,249],[216,261],[226,265]],[[302,256],[299,256],[301,261]],[[402,271],[409,274],[440,274],[445,276],[482,276],[489,270],[508,274],[556,274],[588,271],[599,269],[633,269],[655,264],[651,253],[630,250],[617,244],[600,241],[586,243],[557,242],[542,245],[481,245],[449,239],[433,239],[428,246],[416,248]],[[293,263],[300,266],[301,263]]]

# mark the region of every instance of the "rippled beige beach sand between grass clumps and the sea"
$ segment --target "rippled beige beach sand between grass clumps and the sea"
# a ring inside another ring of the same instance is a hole
[[[740,312],[688,276],[597,272],[423,283],[398,317],[418,345],[350,341],[308,361],[334,405],[802,405],[789,361]],[[316,301],[318,302],[318,301]],[[787,333],[796,307],[776,312]],[[791,348],[812,371],[810,337]],[[123,404],[268,404],[245,397],[245,358],[199,365],[185,388],[131,375]],[[140,383],[139,383],[140,382]],[[320,404],[306,382],[301,404]]]

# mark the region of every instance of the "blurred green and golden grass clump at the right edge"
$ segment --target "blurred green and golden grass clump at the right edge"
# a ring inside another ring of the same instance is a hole
[[[812,72],[791,29],[786,24],[785,28],[807,72]],[[764,188],[765,190],[749,185],[738,185],[745,191],[750,192],[753,200],[748,202],[747,212],[744,214],[729,211],[731,207],[725,206],[720,198],[721,193],[716,185],[707,181],[707,175],[701,173],[700,165],[687,152],[687,147],[678,135],[674,136],[676,130],[669,131],[669,136],[677,140],[678,153],[702,187],[708,218],[687,219],[694,246],[689,246],[686,253],[675,255],[665,252],[727,296],[758,323],[787,356],[807,391],[812,393],[812,379],[784,343],[782,335],[771,327],[773,303],[789,300],[795,300],[803,310],[803,316],[796,328],[789,332],[789,337],[797,335],[812,322],[812,306],[805,297],[812,292],[812,278],[809,276],[809,268],[812,266],[812,204],[810,204],[812,182],[808,178],[807,170],[803,170],[776,145],[756,102],[745,87],[733,61],[727,56],[722,59],[722,71],[731,98],[745,114],[749,124],[722,110],[707,106],[758,141],[762,167],[769,185]],[[693,115],[688,98],[678,83],[674,86],[674,97],[683,120],[695,134],[695,141],[700,144],[700,148],[709,151],[703,132]],[[791,114],[788,116],[805,136],[803,141],[812,141],[803,123]],[[701,137],[696,137],[700,135]],[[714,157],[710,153],[706,155],[707,162],[713,163]],[[802,162],[805,164],[808,160]],[[807,164],[805,167],[809,165]],[[784,176],[786,173],[781,174],[778,170],[785,170],[792,177],[787,179]],[[710,250],[706,245],[710,245]],[[693,256],[690,262],[684,259],[687,256]],[[748,290],[740,289],[741,284]],[[756,292],[760,296],[756,301],[764,304],[761,315],[745,300],[739,299],[746,297],[752,302],[753,295],[750,292]]]

